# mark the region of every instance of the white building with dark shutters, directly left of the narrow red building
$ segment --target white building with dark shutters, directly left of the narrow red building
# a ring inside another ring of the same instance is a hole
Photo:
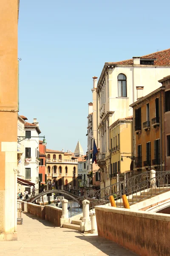
[[[25,119],[27,120],[27,118]],[[41,133],[39,123],[34,118],[33,123],[25,122],[25,179],[35,184],[35,190],[39,188],[39,134]],[[31,194],[31,188],[26,187]]]

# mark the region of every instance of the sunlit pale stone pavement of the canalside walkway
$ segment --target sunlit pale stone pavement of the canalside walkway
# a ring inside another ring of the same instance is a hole
[[[48,221],[22,213],[18,241],[0,242],[0,256],[135,256],[102,237],[55,227]]]

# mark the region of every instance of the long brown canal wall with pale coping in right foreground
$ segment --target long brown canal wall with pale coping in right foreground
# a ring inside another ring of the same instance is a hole
[[[170,255],[170,215],[96,206],[99,236],[141,256]]]

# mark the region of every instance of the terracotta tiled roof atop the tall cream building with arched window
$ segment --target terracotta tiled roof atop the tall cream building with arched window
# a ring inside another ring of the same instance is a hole
[[[148,55],[143,55],[139,57],[141,59],[156,59],[154,61],[155,66],[169,66],[170,65],[170,48],[154,52]],[[125,61],[117,61],[117,62],[107,62],[108,64],[117,64],[117,65],[133,65],[133,58]]]

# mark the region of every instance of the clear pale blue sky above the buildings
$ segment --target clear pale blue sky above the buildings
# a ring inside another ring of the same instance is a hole
[[[20,0],[20,112],[47,148],[87,151],[93,76],[105,62],[170,48],[169,1]]]

